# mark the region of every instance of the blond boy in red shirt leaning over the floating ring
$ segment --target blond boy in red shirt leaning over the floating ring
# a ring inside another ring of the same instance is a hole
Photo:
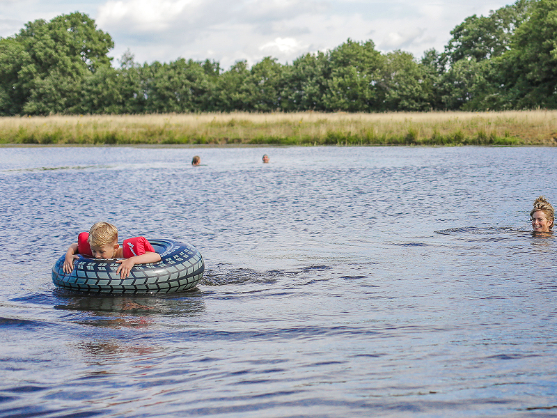
[[[118,245],[118,229],[108,222],[97,222],[91,226],[88,233],[82,232],[77,237],[77,244],[70,245],[65,253],[63,270],[65,274],[72,272],[74,260],[79,258],[76,254],[84,254],[95,258],[125,258],[118,260],[120,263],[116,274],[120,279],[125,279],[136,264],[157,263],[161,256],[155,252],[145,237],[124,240],[123,247]]]

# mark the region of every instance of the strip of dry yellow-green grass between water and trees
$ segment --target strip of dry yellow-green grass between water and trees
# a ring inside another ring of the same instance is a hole
[[[12,117],[0,144],[554,146],[557,111]]]

